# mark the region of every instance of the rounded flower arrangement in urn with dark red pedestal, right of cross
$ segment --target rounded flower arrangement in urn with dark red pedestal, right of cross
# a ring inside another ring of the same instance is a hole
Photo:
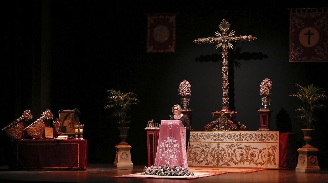
[[[272,81],[265,78],[260,84],[260,95],[263,107],[257,110],[260,113],[260,127],[257,131],[271,131],[270,120],[272,111],[269,109]]]

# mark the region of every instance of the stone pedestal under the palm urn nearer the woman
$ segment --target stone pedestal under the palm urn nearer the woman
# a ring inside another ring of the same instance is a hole
[[[133,167],[133,163],[131,161],[131,146],[127,145],[116,145],[116,154],[114,166],[116,167]]]

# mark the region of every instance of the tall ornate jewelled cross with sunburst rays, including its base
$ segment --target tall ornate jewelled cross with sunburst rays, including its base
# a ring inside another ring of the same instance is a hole
[[[215,49],[222,46],[222,89],[223,89],[223,98],[222,98],[222,109],[221,111],[216,111],[212,113],[216,120],[207,124],[205,126],[206,130],[245,130],[245,125],[240,122],[235,122],[235,117],[239,115],[235,111],[230,111],[229,109],[229,87],[228,87],[228,48],[232,49],[233,45],[231,42],[239,42],[239,41],[253,41],[256,40],[256,37],[249,36],[235,36],[235,31],[231,31],[228,34],[228,30],[230,28],[229,22],[226,19],[223,19],[219,25],[219,31],[215,32],[217,37],[209,37],[209,38],[198,38],[194,41],[194,43],[202,44],[202,43],[218,43]],[[221,115],[223,114],[223,115]],[[222,119],[224,117],[224,119]],[[221,121],[221,122],[220,122]],[[224,122],[226,121],[226,122]],[[240,123],[240,124],[239,124]]]

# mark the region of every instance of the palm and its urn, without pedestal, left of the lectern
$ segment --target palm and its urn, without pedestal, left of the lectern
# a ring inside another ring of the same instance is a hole
[[[126,127],[126,124],[131,121],[127,120],[128,116],[126,114],[130,109],[130,106],[133,104],[138,104],[139,100],[133,92],[123,93],[120,90],[114,89],[107,90],[106,92],[108,93],[108,101],[105,109],[113,109],[112,116],[117,117],[117,123],[120,124],[120,127],[118,127],[120,131],[120,138],[122,139],[120,144],[127,144],[125,139],[128,137],[127,133],[130,127]]]

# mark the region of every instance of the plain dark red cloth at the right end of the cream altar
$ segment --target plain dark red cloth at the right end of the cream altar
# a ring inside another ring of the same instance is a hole
[[[279,169],[295,169],[296,133],[279,133]]]

